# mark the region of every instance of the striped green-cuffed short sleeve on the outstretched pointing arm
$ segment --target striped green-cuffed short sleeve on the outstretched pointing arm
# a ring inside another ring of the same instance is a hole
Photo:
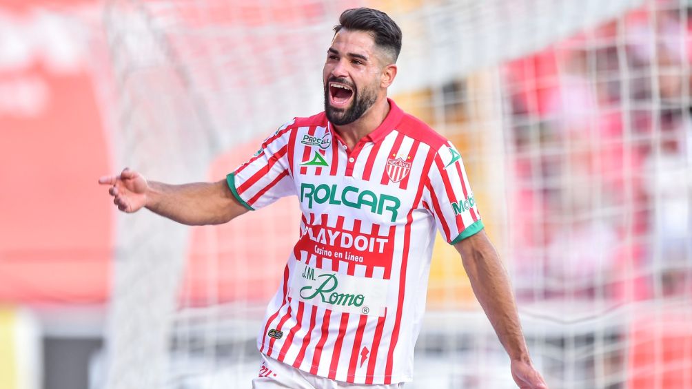
[[[260,209],[295,194],[288,162],[291,124],[277,129],[248,162],[226,175],[228,188],[247,209]]]

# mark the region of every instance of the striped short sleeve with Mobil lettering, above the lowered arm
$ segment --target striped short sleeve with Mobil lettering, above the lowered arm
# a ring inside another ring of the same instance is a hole
[[[462,155],[451,142],[437,151],[423,196],[448,243],[453,245],[483,229]]]

